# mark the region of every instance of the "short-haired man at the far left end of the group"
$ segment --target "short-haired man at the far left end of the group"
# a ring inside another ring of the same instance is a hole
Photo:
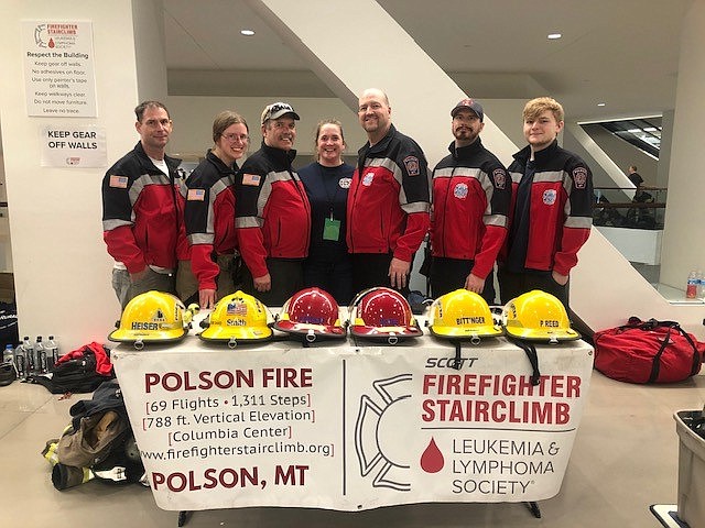
[[[134,114],[140,141],[102,178],[102,238],[116,261],[112,287],[122,308],[151,289],[175,294],[183,207],[181,160],[165,154],[173,130],[169,110],[144,101]]]

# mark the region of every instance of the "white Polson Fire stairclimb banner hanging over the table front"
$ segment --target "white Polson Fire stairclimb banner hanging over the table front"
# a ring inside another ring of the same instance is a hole
[[[454,350],[435,345],[240,350],[235,362],[185,342],[112,355],[163,509],[555,496],[592,349],[540,346],[539,385],[510,343],[468,352],[459,370],[447,366]]]

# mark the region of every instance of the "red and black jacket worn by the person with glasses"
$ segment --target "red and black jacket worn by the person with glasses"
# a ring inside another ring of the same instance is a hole
[[[235,174],[213,152],[194,168],[185,183],[184,224],[191,245],[191,267],[198,289],[216,289],[220,268],[217,255],[235,254]]]

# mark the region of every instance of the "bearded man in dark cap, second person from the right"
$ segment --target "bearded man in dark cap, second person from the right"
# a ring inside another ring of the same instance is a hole
[[[451,110],[455,141],[433,169],[431,290],[465,288],[495,304],[494,267],[505,238],[511,182],[480,141],[485,112],[474,99]]]

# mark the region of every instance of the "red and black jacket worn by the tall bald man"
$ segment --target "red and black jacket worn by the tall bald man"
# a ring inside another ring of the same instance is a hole
[[[348,190],[350,253],[390,253],[411,262],[429,231],[429,172],[419,144],[391,125],[358,151]]]

